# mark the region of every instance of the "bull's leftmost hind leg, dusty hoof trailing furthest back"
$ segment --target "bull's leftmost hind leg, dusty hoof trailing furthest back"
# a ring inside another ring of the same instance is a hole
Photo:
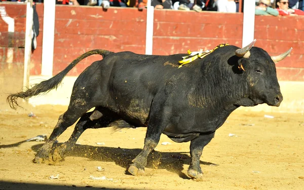
[[[52,163],[51,150],[55,140],[60,136],[69,126],[73,125],[84,113],[86,113],[92,106],[87,106],[84,101],[82,105],[78,105],[78,101],[71,101],[68,109],[59,117],[52,134],[46,143],[39,148],[35,156],[35,163]]]

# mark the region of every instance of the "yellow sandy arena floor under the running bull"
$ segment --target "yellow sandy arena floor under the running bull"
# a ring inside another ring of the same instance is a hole
[[[145,128],[90,129],[64,161],[56,165],[32,162],[66,107],[58,105],[10,109],[0,103],[0,189],[303,189],[304,116],[301,113],[236,110],[216,131],[201,157],[204,181],[187,176],[189,143],[162,135],[148,157],[145,176],[126,174],[143,147]],[[29,117],[33,112],[36,117]],[[266,118],[264,115],[274,116]],[[68,128],[58,144],[73,130]],[[234,135],[229,135],[234,134]],[[97,145],[103,142],[104,145]],[[170,144],[162,145],[163,142]],[[98,171],[100,166],[104,171]],[[57,176],[51,179],[50,176]],[[106,180],[94,180],[90,176]]]

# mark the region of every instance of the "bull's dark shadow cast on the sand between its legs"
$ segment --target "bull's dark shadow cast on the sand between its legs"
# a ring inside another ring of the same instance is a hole
[[[54,144],[60,146],[61,143]],[[33,145],[31,148],[37,151],[42,144]],[[115,148],[106,146],[91,146],[75,144],[71,151],[66,153],[66,157],[82,157],[100,162],[115,162],[115,164],[126,168],[126,174],[129,174],[128,168],[132,164],[132,160],[140,153],[141,149],[134,148]],[[190,164],[191,158],[185,153],[179,152],[160,152],[152,151],[147,159],[146,168],[166,169],[170,172],[178,174],[183,179],[190,179],[182,172],[183,164]],[[64,161],[62,161],[64,162]],[[216,165],[210,162],[200,161],[203,165]]]

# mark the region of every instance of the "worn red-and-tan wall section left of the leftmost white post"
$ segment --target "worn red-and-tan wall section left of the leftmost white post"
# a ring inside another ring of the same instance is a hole
[[[8,24],[0,18],[0,102],[5,102],[6,93],[20,91],[23,85],[26,9],[14,5],[6,7],[6,12],[15,19],[15,32],[9,33]]]

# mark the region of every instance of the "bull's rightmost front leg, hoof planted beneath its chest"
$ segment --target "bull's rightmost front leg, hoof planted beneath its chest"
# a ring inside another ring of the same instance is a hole
[[[188,169],[188,175],[198,181],[203,180],[203,172],[200,166],[200,158],[203,153],[203,148],[213,137],[214,133],[209,135],[200,135],[190,143],[191,163]]]

